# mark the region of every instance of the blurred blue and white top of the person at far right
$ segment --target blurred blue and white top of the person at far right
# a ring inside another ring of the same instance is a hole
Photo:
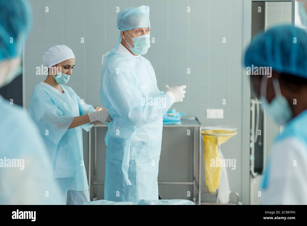
[[[262,204],[307,204],[307,110],[289,121],[270,148]]]

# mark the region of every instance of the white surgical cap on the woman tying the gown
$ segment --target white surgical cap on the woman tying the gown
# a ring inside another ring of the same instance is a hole
[[[44,53],[43,63],[47,67],[52,67],[53,65],[56,65],[71,58],[76,59],[71,48],[65,45],[56,45],[50,47],[47,52]]]

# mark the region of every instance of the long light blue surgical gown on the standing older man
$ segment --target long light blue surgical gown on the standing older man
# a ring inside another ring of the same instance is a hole
[[[171,97],[160,94],[150,61],[123,48],[120,44],[122,52],[107,56],[101,72],[100,100],[113,117],[106,136],[104,199],[157,200],[163,114]],[[153,102],[142,103],[145,99]]]

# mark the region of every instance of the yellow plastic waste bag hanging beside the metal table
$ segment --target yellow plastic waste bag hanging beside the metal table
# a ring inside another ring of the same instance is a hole
[[[237,134],[236,131],[214,129],[201,132],[204,137],[204,165],[206,188],[212,194],[219,188],[222,167],[219,145]]]

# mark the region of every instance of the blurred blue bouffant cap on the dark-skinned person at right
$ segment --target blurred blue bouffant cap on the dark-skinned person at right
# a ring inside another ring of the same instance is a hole
[[[279,25],[252,39],[244,55],[246,67],[272,67],[278,73],[307,78],[307,32]]]

